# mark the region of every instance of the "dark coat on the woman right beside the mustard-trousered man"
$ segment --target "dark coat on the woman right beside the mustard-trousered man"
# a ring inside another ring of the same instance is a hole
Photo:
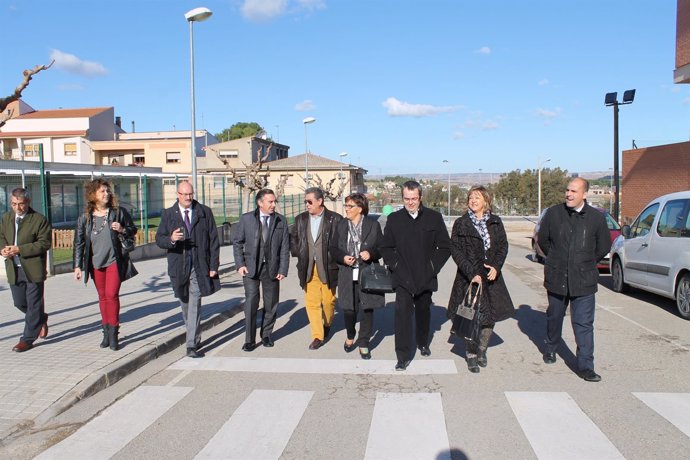
[[[362,242],[360,244],[361,251],[369,251],[371,258],[365,262],[359,261],[359,269],[363,270],[372,263],[379,263],[381,253],[379,252],[379,244],[381,243],[381,226],[373,219],[362,216]],[[330,253],[331,258],[338,264],[338,305],[343,310],[354,310],[355,302],[352,291],[352,267],[345,264],[345,256],[351,256],[347,251],[348,239],[348,223],[349,220],[341,219],[336,226],[335,237],[331,240]],[[359,283],[357,284],[359,289]],[[359,301],[364,310],[383,307],[386,303],[383,294],[370,294],[367,292],[359,293]]]

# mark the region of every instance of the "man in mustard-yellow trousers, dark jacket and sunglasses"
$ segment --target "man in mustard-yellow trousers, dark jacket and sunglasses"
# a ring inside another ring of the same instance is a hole
[[[335,315],[335,288],[338,264],[329,256],[328,247],[340,214],[324,206],[323,190],[310,187],[304,191],[307,210],[295,218],[290,232],[290,250],[297,257],[299,285],[311,326],[310,350],[317,350],[328,338]]]

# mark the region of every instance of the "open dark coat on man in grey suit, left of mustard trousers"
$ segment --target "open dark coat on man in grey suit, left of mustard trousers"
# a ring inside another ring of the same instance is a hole
[[[247,277],[254,278],[259,271],[259,243],[261,240],[261,222],[259,208],[245,212],[235,227],[232,239],[232,252],[235,267],[239,270],[247,267]],[[287,276],[290,267],[290,232],[285,216],[273,213],[268,226],[268,274],[275,278],[278,274]]]

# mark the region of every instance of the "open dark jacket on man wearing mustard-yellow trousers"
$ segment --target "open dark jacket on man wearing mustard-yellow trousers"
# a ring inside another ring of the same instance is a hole
[[[328,250],[331,241],[334,239],[335,227],[342,220],[342,216],[338,213],[324,209],[321,221],[321,260],[325,262],[326,269],[326,284],[333,289],[338,283],[338,264],[332,257],[328,256]],[[295,225],[290,229],[290,252],[294,257],[297,257],[297,276],[299,277],[299,285],[304,289],[307,285],[307,272],[309,271],[309,238],[308,232],[311,231],[309,226],[309,212],[305,211],[295,217]],[[316,268],[314,268],[316,269]]]

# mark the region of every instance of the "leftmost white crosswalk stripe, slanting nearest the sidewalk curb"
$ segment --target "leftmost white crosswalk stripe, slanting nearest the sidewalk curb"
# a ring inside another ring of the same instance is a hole
[[[193,388],[142,386],[36,459],[108,459]]]

